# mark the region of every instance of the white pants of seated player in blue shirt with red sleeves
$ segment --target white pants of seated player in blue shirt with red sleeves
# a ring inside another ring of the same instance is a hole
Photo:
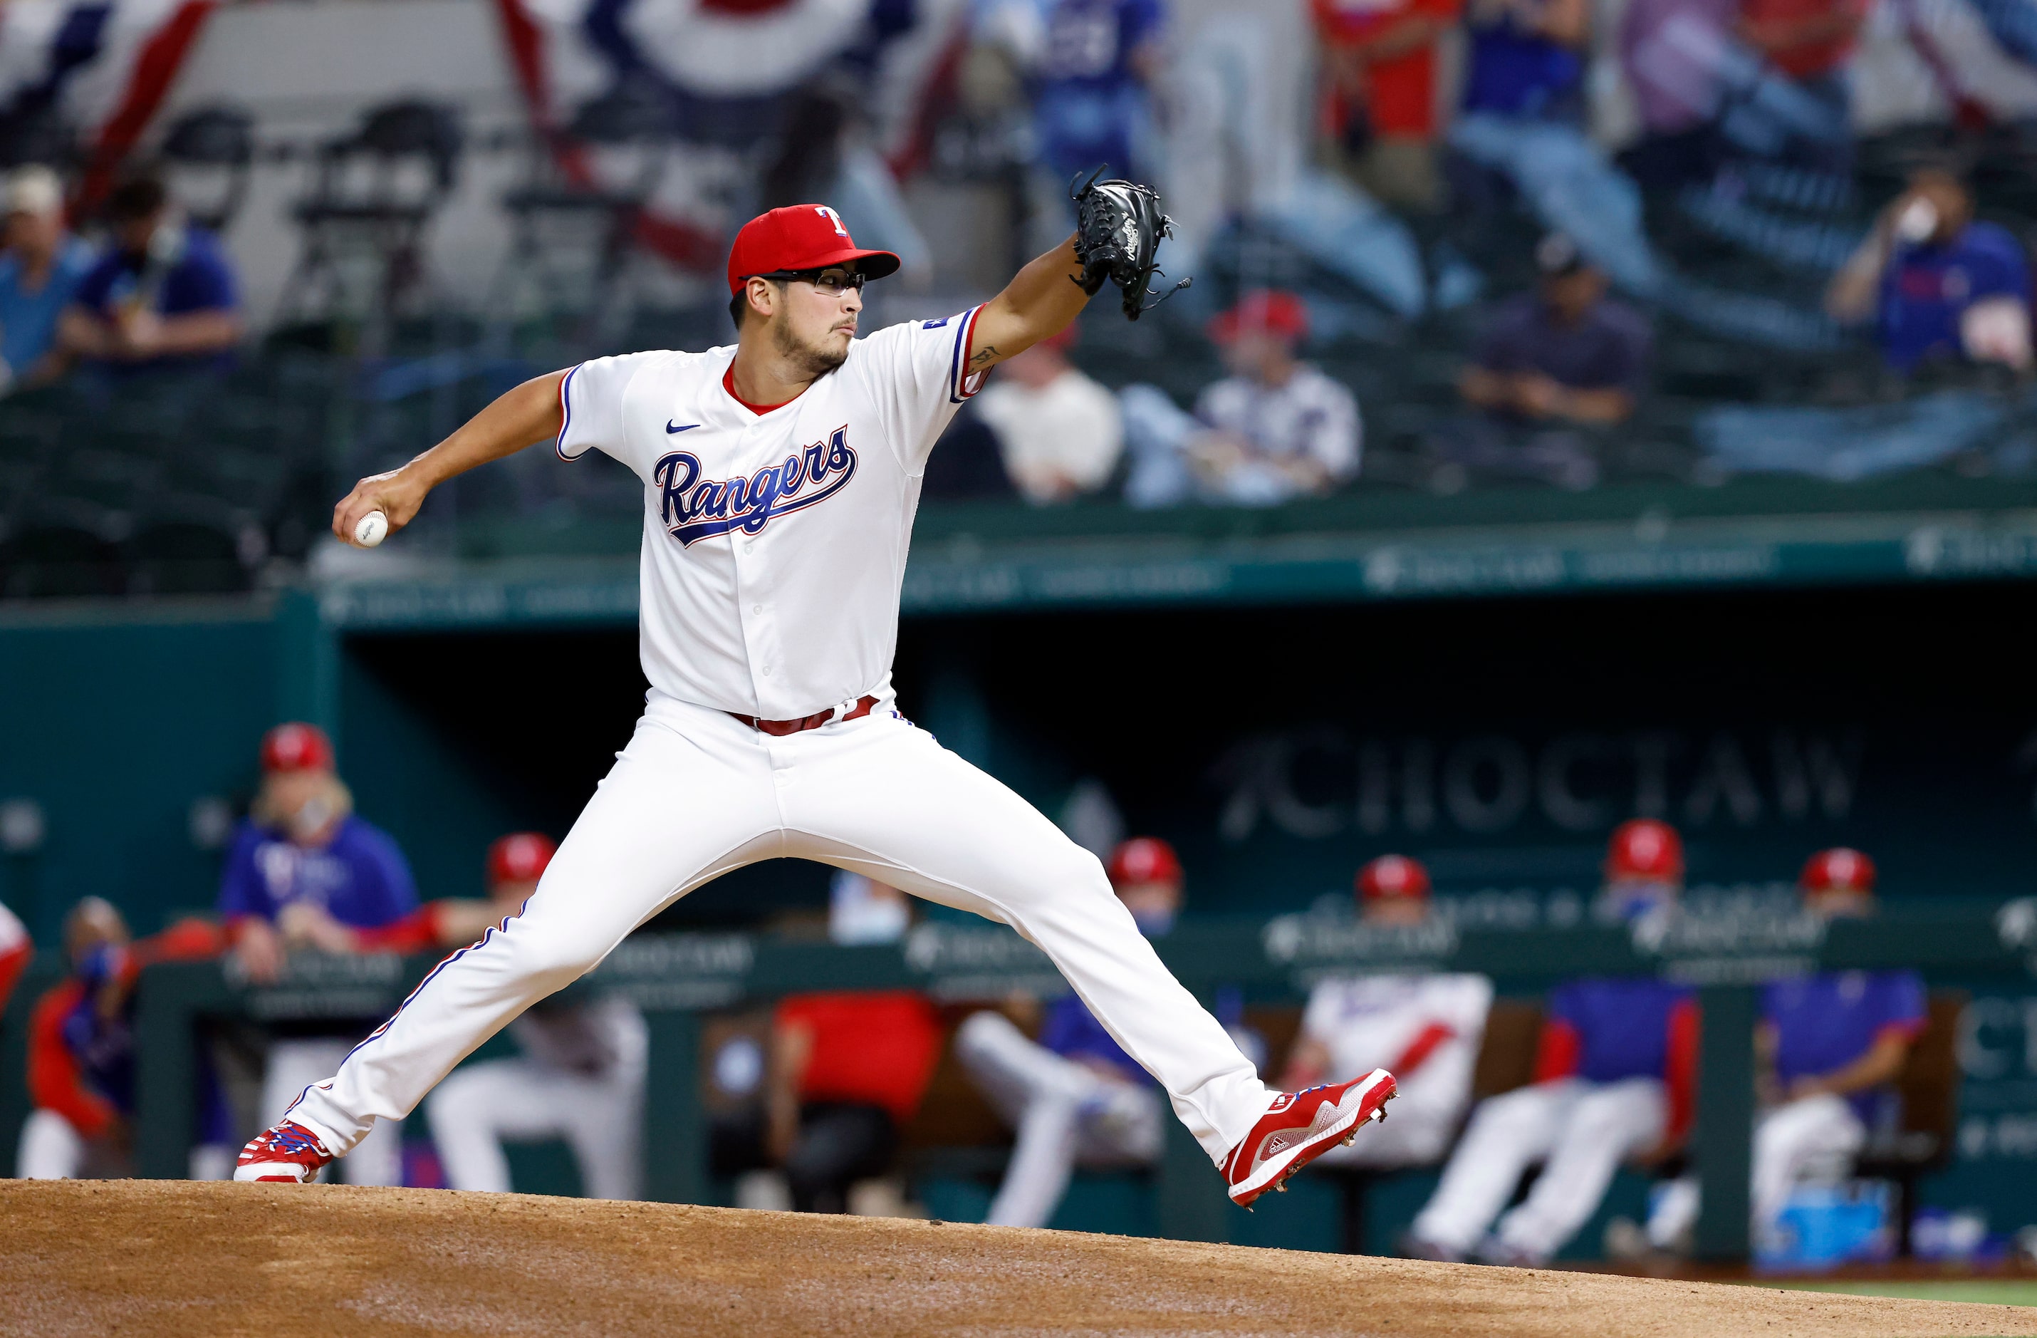
[[[1511,1255],[1552,1259],[1597,1210],[1619,1163],[1654,1147],[1666,1120],[1668,1098],[1654,1077],[1617,1083],[1571,1077],[1479,1102],[1412,1230],[1456,1255],[1471,1252],[1513,1195],[1522,1171],[1542,1161],[1534,1189],[1499,1218],[1493,1236]]]

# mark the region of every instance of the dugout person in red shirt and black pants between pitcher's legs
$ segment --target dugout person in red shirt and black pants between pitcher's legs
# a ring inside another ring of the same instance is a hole
[[[904,892],[862,880],[868,900],[829,912],[839,943],[880,941],[882,918],[898,937],[911,921]],[[849,1185],[884,1175],[898,1132],[913,1120],[933,1065],[941,1022],[921,994],[870,990],[792,994],[772,1020],[772,1065],[764,1130],[770,1161],[784,1169],[796,1212],[847,1212]]]

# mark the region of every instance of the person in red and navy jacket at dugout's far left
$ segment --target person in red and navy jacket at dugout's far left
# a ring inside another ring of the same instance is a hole
[[[71,973],[35,1004],[29,1020],[29,1100],[16,1175],[77,1179],[132,1175],[134,982],[151,961],[194,961],[224,949],[216,925],[177,921],[132,943],[126,921],[98,896],[63,921]],[[191,1179],[232,1171],[232,1128],[218,1083],[206,1085],[204,1134],[191,1151]]]

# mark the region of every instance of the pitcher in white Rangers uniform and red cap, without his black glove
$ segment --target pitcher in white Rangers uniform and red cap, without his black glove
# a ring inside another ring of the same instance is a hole
[[[927,456],[984,373],[1063,330],[1092,291],[1071,236],[984,305],[856,338],[864,281],[896,269],[827,206],[772,210],[729,255],[733,346],[534,377],[338,503],[334,532],[373,538],[371,515],[397,529],[438,483],[534,442],[556,438],[566,460],[615,456],[644,481],[650,692],[524,912],[442,961],[306,1088],[240,1153],[236,1179],[312,1179],[658,910],[772,857],[845,868],[1037,943],[1165,1088],[1238,1204],[1383,1114],[1383,1069],[1302,1094],[1261,1083],[1098,859],[896,711],[898,589]]]

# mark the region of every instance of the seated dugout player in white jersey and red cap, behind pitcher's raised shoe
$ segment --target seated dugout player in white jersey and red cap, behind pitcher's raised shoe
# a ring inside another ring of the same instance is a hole
[[[1359,870],[1367,925],[1420,925],[1428,870],[1379,855]],[[1471,1069],[1485,1039],[1493,982],[1471,973],[1348,975],[1316,984],[1279,1085],[1300,1092],[1387,1069],[1399,1083],[1393,1118],[1324,1153],[1324,1165],[1406,1167],[1440,1161],[1471,1104]]]

